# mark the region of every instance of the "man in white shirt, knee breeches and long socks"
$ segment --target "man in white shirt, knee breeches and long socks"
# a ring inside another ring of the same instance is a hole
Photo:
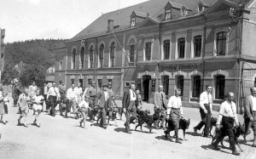
[[[172,97],[169,99],[168,105],[167,105],[167,116],[166,118],[171,118],[173,125],[174,125],[174,131],[176,136],[176,143],[182,144],[182,142],[178,138],[178,128],[179,128],[179,120],[183,117],[183,108],[182,108],[182,101],[179,97],[181,94],[180,89],[175,89],[175,94],[172,95]],[[170,129],[167,128],[165,131],[166,134],[170,133]]]

